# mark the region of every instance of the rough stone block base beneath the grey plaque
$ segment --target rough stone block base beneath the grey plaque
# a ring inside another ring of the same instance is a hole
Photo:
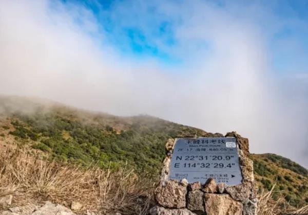
[[[169,214],[256,214],[257,199],[254,183],[237,186],[216,184],[210,179],[207,184],[188,184],[186,180],[166,181],[156,191],[160,207],[151,210],[151,215]]]

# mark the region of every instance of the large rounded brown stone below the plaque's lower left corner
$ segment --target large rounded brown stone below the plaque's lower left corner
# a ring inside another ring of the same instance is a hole
[[[155,190],[156,201],[163,207],[184,208],[186,206],[186,187],[178,181],[166,181]]]

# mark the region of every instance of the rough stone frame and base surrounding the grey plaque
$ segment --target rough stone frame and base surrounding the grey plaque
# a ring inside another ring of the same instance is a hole
[[[206,137],[223,137],[210,134]],[[254,181],[253,161],[248,158],[248,139],[236,132],[229,132],[225,137],[236,137],[239,152],[239,164],[242,183],[228,186],[216,184],[209,178],[203,185],[200,182],[189,184],[168,180],[169,166],[175,140],[169,139],[166,144],[167,156],[163,162],[160,183],[155,190],[157,206],[151,208],[151,215],[255,215],[257,211],[257,185]]]

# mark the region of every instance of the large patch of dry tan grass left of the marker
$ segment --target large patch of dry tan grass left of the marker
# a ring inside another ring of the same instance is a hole
[[[82,210],[102,214],[146,214],[152,187],[148,180],[127,169],[85,169],[47,162],[20,150],[0,153],[0,196],[12,193],[16,206],[46,200],[69,206],[78,201],[83,204]]]

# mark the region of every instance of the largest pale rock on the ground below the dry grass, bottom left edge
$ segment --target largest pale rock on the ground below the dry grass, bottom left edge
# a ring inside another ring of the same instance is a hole
[[[69,208],[62,205],[55,205],[47,201],[44,206],[38,208],[32,215],[76,215]]]

